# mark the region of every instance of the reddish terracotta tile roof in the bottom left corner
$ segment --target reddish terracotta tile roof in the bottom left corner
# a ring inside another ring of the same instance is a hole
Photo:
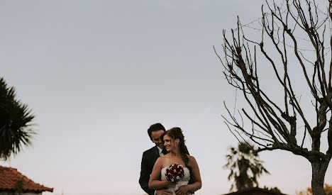
[[[52,188],[36,184],[28,177],[24,176],[17,169],[0,166],[0,191],[15,191],[16,181],[23,181],[23,192],[53,191]]]

